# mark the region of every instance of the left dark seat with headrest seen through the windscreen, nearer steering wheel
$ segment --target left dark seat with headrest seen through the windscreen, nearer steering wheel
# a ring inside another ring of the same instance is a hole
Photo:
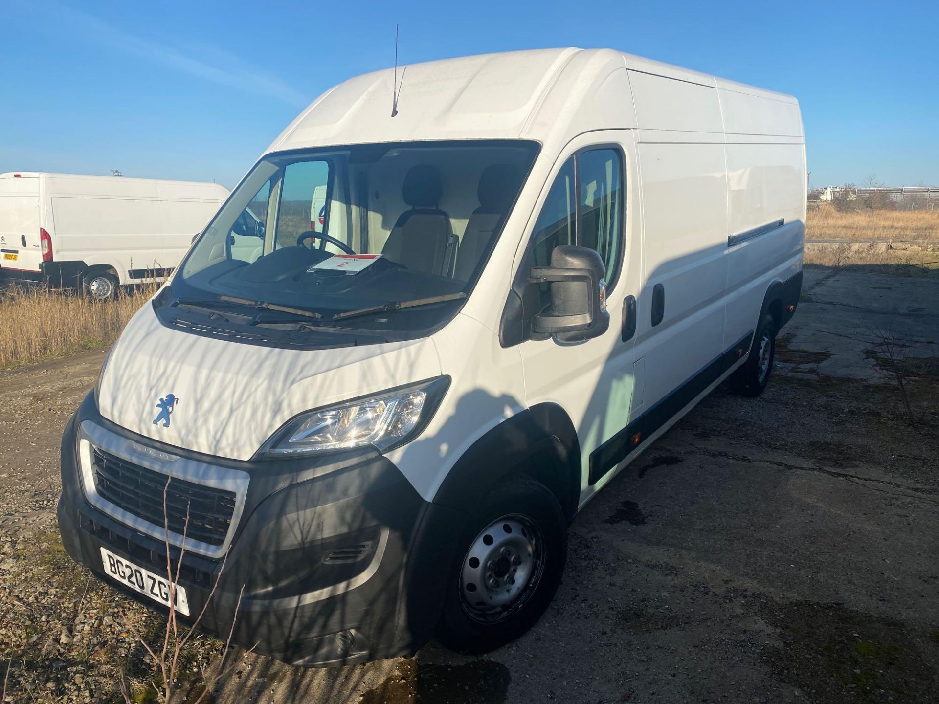
[[[401,187],[410,206],[394,223],[381,253],[412,271],[449,276],[456,236],[450,216],[438,207],[443,188],[436,166],[412,166]]]

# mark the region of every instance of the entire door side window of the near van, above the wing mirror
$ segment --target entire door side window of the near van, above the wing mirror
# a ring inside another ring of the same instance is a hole
[[[551,251],[577,244],[600,254],[607,287],[619,276],[623,252],[623,161],[616,149],[590,149],[568,159],[548,191],[531,235],[535,267],[551,264]],[[579,192],[575,195],[579,183]],[[542,288],[546,292],[546,285]],[[543,299],[545,297],[543,296]]]

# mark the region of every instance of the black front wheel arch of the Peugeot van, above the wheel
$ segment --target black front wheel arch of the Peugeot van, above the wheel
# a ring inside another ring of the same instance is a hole
[[[512,473],[545,484],[568,520],[577,513],[580,444],[574,423],[557,404],[531,406],[474,442],[447,473],[434,503],[466,511]]]

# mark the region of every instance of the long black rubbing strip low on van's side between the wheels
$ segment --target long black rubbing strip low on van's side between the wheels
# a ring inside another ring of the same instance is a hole
[[[685,406],[694,401],[721,375],[729,370],[737,360],[743,357],[753,342],[753,331],[747,332],[736,344],[708,362],[690,379],[663,398],[635,421],[632,421],[615,436],[590,455],[590,484],[593,486],[606,476],[607,472],[619,465],[626,456],[635,450],[642,441],[651,436]]]

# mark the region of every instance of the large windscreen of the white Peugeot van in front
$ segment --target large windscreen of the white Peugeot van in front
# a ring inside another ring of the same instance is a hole
[[[316,326],[427,327],[469,295],[536,153],[514,140],[269,155],[174,293],[311,312]]]

